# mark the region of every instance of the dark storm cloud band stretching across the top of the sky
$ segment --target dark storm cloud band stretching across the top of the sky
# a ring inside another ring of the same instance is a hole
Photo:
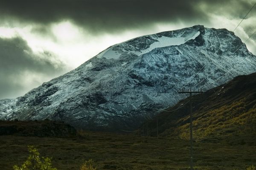
[[[206,4],[202,10],[201,4]],[[3,18],[35,23],[73,20],[94,33],[123,31],[152,23],[204,21],[208,11],[242,18],[252,4],[246,0],[2,0]]]

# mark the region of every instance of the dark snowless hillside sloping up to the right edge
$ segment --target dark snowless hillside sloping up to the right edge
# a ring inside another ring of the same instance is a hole
[[[192,96],[195,140],[256,144],[256,73]],[[159,113],[159,133],[189,139],[189,100]],[[187,103],[187,104],[186,104]],[[184,105],[186,104],[186,105]],[[183,106],[183,107],[181,107]],[[157,119],[148,122],[148,133],[157,134]],[[143,128],[141,129],[143,131]],[[145,130],[146,131],[146,130]]]

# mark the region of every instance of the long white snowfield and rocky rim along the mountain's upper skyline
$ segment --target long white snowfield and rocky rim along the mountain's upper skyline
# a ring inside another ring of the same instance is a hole
[[[182,31],[165,31],[158,34],[137,37],[135,39],[113,45],[105,51],[102,51],[96,57],[119,59],[123,53],[126,54],[127,52],[140,56],[152,51],[155,48],[181,45],[189,40],[195,40],[195,38],[200,35],[202,27],[204,28],[204,26],[194,26],[190,29],[183,29]],[[141,45],[145,46],[142,47]]]

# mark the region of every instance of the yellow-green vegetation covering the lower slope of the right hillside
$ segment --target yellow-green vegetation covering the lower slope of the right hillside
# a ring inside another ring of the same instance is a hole
[[[222,136],[227,139],[239,136],[241,144],[256,144],[255,140],[248,141],[246,138],[241,138],[245,135],[256,136],[256,107],[247,110],[244,100],[241,99],[231,105],[224,105],[206,114],[198,115],[193,121],[194,139],[221,139]],[[177,135],[181,139],[189,139],[189,123],[175,129],[172,135]],[[230,141],[234,142],[234,140]]]

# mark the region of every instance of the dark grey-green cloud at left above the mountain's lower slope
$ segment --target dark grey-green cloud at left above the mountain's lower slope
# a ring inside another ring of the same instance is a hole
[[[40,76],[59,75],[64,71],[61,62],[52,63],[52,56],[45,52],[44,59],[32,53],[26,41],[20,37],[0,38],[0,99],[21,95],[35,85]],[[29,84],[29,76],[38,74]]]

